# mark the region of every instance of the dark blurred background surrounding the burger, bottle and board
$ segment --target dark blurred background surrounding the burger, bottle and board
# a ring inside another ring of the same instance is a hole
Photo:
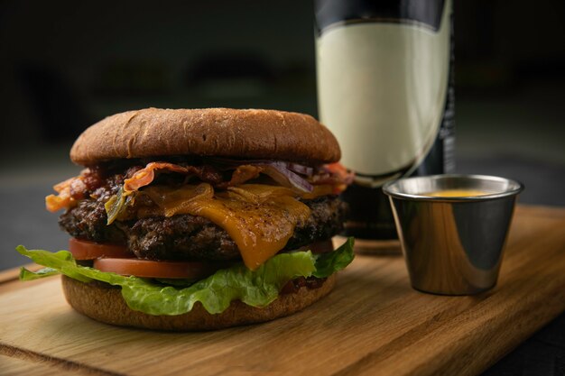
[[[457,170],[565,206],[565,2],[455,2]],[[117,112],[277,108],[317,115],[309,0],[0,1],[0,270],[65,248],[51,186],[74,138]],[[385,88],[384,88],[385,89]],[[564,374],[563,316],[488,374]]]

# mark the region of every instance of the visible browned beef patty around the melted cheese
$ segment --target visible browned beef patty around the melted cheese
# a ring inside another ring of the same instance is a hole
[[[342,230],[347,206],[338,197],[302,202],[310,207],[310,217],[296,226],[285,250],[329,239]],[[126,243],[142,259],[221,261],[241,258],[226,230],[200,216],[150,216],[107,225],[103,201],[84,199],[60,216],[59,225],[79,239]]]

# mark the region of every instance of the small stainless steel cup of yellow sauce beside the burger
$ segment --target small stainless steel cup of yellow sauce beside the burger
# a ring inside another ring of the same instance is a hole
[[[447,189],[468,197],[431,197]],[[482,175],[435,175],[387,183],[412,287],[443,295],[476,294],[496,285],[522,183]]]

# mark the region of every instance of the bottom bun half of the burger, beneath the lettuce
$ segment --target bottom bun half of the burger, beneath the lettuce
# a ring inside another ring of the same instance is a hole
[[[197,331],[260,323],[291,315],[328,295],[336,284],[336,275],[330,276],[317,289],[301,287],[296,292],[282,294],[267,307],[251,307],[236,300],[224,312],[217,315],[209,314],[197,302],[186,314],[153,316],[127,307],[121,290],[106,283],[96,281],[84,283],[62,276],[62,284],[70,306],[97,321],[116,326]]]

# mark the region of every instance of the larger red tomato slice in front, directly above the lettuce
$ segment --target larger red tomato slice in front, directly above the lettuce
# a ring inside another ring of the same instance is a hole
[[[104,258],[94,261],[98,271],[111,271],[126,276],[144,278],[200,279],[208,277],[224,265],[199,261],[152,261],[140,259]]]

